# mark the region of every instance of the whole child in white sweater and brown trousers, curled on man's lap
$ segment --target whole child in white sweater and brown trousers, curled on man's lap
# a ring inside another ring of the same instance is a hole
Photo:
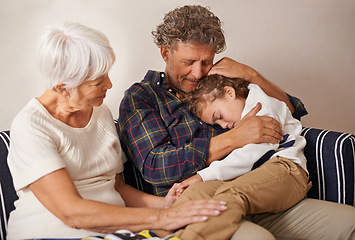
[[[184,240],[229,239],[244,216],[281,212],[304,198],[311,186],[302,151],[306,141],[300,135],[301,123],[292,117],[285,103],[267,96],[255,84],[220,75],[202,79],[186,100],[201,120],[229,129],[261,104],[258,115],[278,120],[285,136],[279,144],[248,144],[236,149],[183,181],[176,205],[212,197],[226,201],[228,209],[207,222],[187,226],[176,236]]]

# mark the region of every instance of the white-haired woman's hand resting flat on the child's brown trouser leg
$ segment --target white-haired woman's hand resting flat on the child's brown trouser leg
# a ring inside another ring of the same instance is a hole
[[[226,210],[226,203],[214,199],[187,201],[179,206],[159,210],[159,225],[164,230],[175,230],[191,223],[204,222]]]

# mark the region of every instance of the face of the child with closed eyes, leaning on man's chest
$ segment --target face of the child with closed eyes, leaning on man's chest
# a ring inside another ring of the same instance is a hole
[[[240,122],[245,99],[236,98],[232,87],[225,87],[225,94],[206,104],[201,111],[200,118],[211,125],[218,124],[222,128],[232,129]]]

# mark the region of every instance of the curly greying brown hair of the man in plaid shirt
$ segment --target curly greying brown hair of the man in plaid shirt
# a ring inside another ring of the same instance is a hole
[[[175,42],[203,44],[221,53],[226,42],[220,19],[208,7],[186,5],[168,12],[163,23],[152,31],[158,47],[174,47]]]

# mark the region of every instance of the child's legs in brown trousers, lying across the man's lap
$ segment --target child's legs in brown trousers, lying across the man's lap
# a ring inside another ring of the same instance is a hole
[[[228,209],[207,222],[187,226],[177,236],[184,240],[229,239],[245,215],[284,211],[303,199],[309,187],[301,167],[285,158],[272,158],[254,171],[224,182],[213,198],[226,201]]]

